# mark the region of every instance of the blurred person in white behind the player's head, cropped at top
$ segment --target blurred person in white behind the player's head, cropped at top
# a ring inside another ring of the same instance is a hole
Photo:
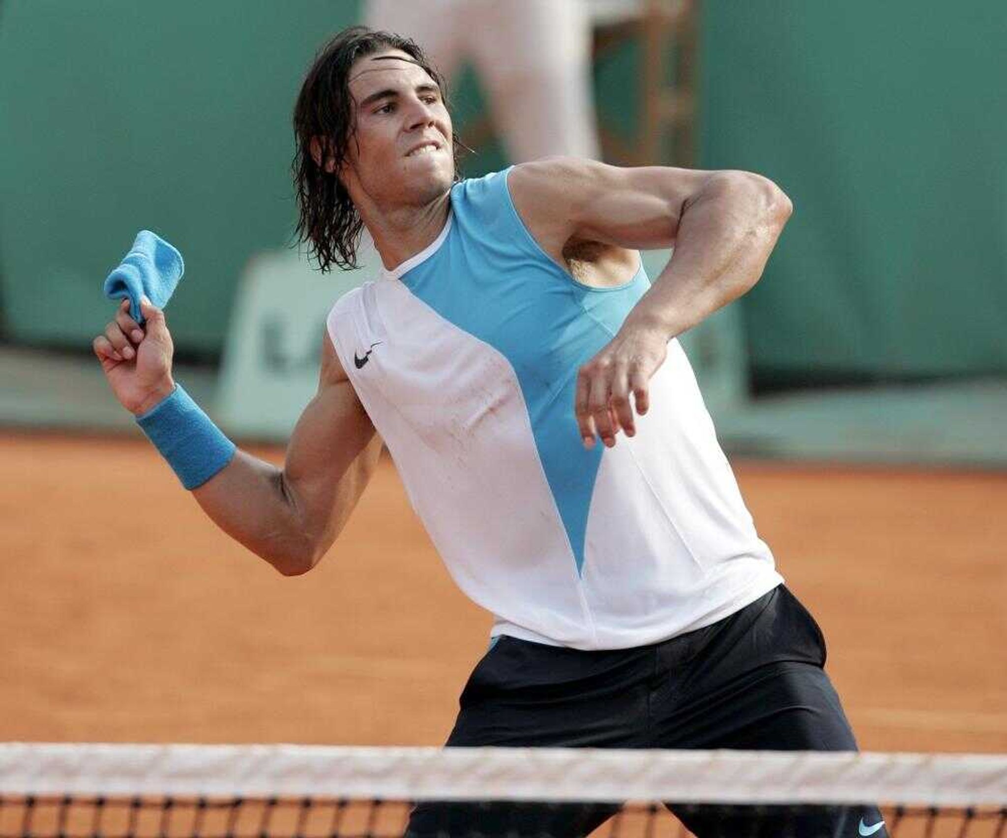
[[[423,44],[449,80],[471,61],[514,162],[600,156],[584,0],[369,0],[365,18]]]

